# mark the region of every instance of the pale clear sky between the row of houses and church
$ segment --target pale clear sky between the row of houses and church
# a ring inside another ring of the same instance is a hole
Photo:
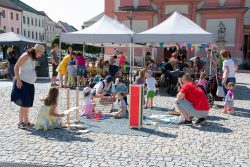
[[[39,11],[45,11],[55,22],[61,20],[81,29],[87,21],[104,11],[104,0],[21,0]]]

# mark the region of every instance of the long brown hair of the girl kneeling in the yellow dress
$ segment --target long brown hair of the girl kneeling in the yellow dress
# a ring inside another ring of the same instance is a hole
[[[51,87],[47,96],[42,99],[45,106],[57,105],[57,99],[59,95],[59,90],[56,87]]]

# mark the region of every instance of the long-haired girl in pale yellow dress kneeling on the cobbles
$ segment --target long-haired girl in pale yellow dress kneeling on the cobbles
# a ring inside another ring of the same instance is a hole
[[[36,130],[48,130],[62,127],[61,117],[64,114],[58,114],[56,112],[57,100],[59,96],[59,90],[56,87],[51,87],[48,95],[42,99],[44,104],[41,106],[37,121],[35,123]]]

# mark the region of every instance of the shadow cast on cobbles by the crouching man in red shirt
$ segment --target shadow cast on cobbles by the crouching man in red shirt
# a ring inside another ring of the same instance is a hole
[[[229,128],[223,127],[224,125],[215,123],[215,122],[207,122],[206,125],[196,127],[193,126],[193,129],[198,129],[200,131],[206,131],[206,132],[216,132],[216,133],[232,133],[233,131]]]

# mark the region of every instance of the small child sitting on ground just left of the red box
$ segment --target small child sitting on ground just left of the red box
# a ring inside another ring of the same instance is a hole
[[[110,115],[113,116],[115,119],[121,119],[126,117],[127,112],[127,104],[124,100],[124,93],[119,92],[117,93],[117,101],[115,102],[118,106],[117,108],[111,110]]]

